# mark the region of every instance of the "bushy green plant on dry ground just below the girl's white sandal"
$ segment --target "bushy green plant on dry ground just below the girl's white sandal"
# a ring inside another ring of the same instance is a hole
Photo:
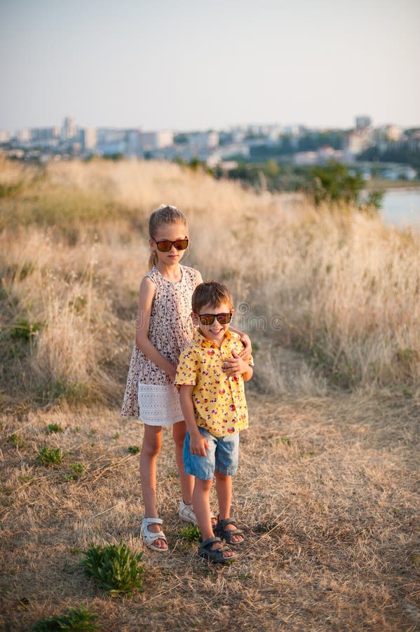
[[[126,544],[120,542],[118,546],[91,544],[85,555],[81,567],[111,597],[130,596],[135,591],[144,590],[142,553],[133,553]]]

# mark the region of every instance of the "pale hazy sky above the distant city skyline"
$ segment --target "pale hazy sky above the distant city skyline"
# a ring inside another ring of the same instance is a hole
[[[0,128],[420,125],[420,0],[0,0]]]

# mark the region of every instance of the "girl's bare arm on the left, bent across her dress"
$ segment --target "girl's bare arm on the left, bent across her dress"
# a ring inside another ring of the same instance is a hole
[[[155,287],[149,277],[144,277],[140,284],[139,303],[137,308],[137,321],[135,326],[135,344],[140,351],[147,355],[154,364],[161,367],[173,380],[177,367],[169,362],[149,340],[149,322],[151,303],[153,302]]]

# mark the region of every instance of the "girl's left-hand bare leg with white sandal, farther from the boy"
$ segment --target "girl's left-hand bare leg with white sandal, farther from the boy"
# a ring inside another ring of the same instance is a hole
[[[162,445],[162,427],[144,424],[142,452],[140,453],[140,481],[146,518],[158,518],[156,509],[156,460]],[[151,533],[161,531],[161,525],[149,525]],[[154,546],[167,548],[164,540],[156,539]]]

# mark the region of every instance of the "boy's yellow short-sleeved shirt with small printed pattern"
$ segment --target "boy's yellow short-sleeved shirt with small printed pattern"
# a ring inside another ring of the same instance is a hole
[[[228,376],[222,370],[232,351],[243,351],[238,334],[228,329],[219,347],[196,329],[194,341],[179,355],[175,376],[175,386],[194,386],[192,400],[197,426],[216,437],[248,428],[243,377]]]

